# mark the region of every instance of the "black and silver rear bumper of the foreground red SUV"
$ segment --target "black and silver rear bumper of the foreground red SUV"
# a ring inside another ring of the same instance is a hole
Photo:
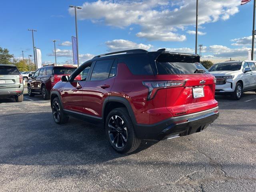
[[[216,107],[194,114],[169,118],[157,124],[136,124],[134,128],[138,138],[164,140],[200,132],[214,122],[218,116],[218,107]]]

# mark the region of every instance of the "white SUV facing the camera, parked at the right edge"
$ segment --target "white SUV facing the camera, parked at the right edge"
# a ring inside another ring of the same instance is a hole
[[[256,91],[256,61],[216,63],[208,71],[216,77],[215,94],[231,94],[239,100],[242,92]]]

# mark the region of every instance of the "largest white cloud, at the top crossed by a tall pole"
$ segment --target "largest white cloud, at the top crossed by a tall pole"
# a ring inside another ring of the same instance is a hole
[[[200,0],[198,24],[227,20],[236,14],[239,0]],[[178,6],[178,8],[177,8]],[[74,9],[69,13],[74,15]],[[85,2],[77,10],[78,19],[90,19],[94,23],[126,28],[132,24],[141,26],[136,35],[148,40],[184,41],[184,34],[176,33],[187,26],[194,26],[196,9],[194,0],[98,0]]]

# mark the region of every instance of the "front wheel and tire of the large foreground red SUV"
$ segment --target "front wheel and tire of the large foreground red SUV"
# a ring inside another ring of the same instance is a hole
[[[52,116],[57,124],[65,124],[68,122],[69,117],[64,114],[60,100],[58,97],[52,100]]]

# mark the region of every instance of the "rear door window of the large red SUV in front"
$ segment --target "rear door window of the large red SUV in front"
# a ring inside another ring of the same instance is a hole
[[[104,80],[109,77],[114,59],[96,61],[92,70],[91,81]]]

